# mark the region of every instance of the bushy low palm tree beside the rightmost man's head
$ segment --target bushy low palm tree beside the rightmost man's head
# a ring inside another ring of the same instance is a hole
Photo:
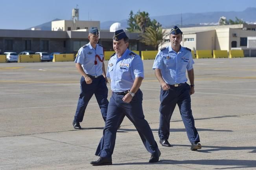
[[[145,33],[140,35],[142,39],[140,42],[152,46],[155,50],[158,50],[158,46],[164,44],[164,35],[166,30],[162,31],[162,27],[158,27],[155,29],[153,26],[149,26],[145,28]]]

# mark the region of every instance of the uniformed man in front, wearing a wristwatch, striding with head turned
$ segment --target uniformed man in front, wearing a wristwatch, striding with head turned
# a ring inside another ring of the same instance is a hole
[[[157,162],[161,154],[142,110],[142,91],[139,88],[144,79],[143,62],[140,56],[127,49],[128,40],[123,29],[115,31],[113,49],[116,53],[110,58],[107,70],[112,96],[103,137],[95,153],[99,159],[92,161],[92,165],[112,165],[116,131],[125,116],[133,122],[145,148],[151,153],[149,163]]]

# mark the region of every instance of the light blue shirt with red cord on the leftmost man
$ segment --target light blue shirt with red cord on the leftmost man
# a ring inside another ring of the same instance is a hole
[[[96,44],[96,49],[94,49],[89,42],[79,49],[75,63],[80,63],[86,74],[94,76],[102,75],[102,62],[99,61],[98,57],[96,57],[97,64],[94,64],[96,55],[103,60],[103,47]]]

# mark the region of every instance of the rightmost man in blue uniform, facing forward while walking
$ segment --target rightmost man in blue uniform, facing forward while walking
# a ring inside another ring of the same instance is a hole
[[[179,27],[175,26],[170,31],[171,45],[161,48],[157,53],[153,69],[155,75],[161,84],[160,91],[160,124],[158,135],[162,146],[170,147],[168,142],[170,120],[173,110],[178,104],[182,121],[186,128],[191,150],[201,149],[201,144],[195,121],[191,110],[190,95],[195,93],[194,90],[194,71],[193,58],[191,49],[184,48],[180,45],[182,32]],[[190,85],[186,83],[186,70]]]

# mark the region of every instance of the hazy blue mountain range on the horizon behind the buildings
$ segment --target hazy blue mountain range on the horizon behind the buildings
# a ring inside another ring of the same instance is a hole
[[[134,13],[136,11],[133,11]],[[206,12],[206,13],[182,13],[182,14],[173,14],[173,15],[162,15],[162,16],[150,16],[151,20],[155,19],[162,27],[169,28],[173,25],[182,25],[182,27],[191,27],[191,26],[202,26],[202,25],[217,25],[219,18],[221,16],[225,16],[227,20],[232,19],[236,20],[236,17],[242,19],[243,21],[249,24],[256,24],[256,7],[248,7],[244,11],[228,11],[228,12]],[[181,24],[182,18],[182,24]],[[52,20],[60,20],[58,18]],[[41,30],[51,30],[52,24],[51,22],[46,22],[44,24],[34,26],[36,28],[41,28]],[[123,19],[120,21],[106,21],[100,23],[101,29],[109,29],[109,27],[114,22],[120,22],[122,27],[127,26],[127,19]],[[28,28],[31,29],[31,28]]]

